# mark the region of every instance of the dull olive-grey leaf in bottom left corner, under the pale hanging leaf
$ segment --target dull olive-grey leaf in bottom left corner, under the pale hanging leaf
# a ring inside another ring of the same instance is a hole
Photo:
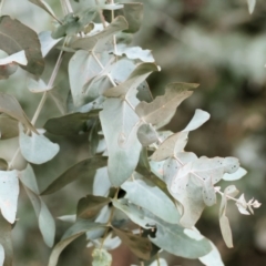
[[[12,225],[8,223],[0,214],[0,245],[4,249],[3,266],[13,266],[13,246],[11,237]],[[1,257],[2,259],[3,257]]]

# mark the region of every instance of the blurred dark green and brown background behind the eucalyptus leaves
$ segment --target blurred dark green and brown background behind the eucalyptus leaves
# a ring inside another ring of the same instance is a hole
[[[61,17],[60,1],[47,1]],[[90,4],[90,0],[80,0]],[[126,1],[130,2],[130,1]],[[193,116],[195,109],[211,113],[211,120],[190,134],[187,151],[198,156],[236,156],[248,174],[234,184],[245,193],[246,200],[255,197],[263,203],[255,215],[244,216],[232,203],[227,209],[234,245],[226,248],[218,226],[218,205],[207,208],[197,223],[198,229],[218,247],[226,266],[266,265],[266,6],[258,1],[254,13],[248,13],[246,0],[146,0],[142,29],[135,34],[134,45],[153,51],[162,71],[149,78],[152,93],[163,94],[167,83],[180,81],[200,83],[201,86],[180,108],[167,129],[182,130]],[[78,7],[72,1],[73,7]],[[27,0],[6,1],[2,13],[11,14],[37,32],[52,29],[52,20],[41,9]],[[57,52],[47,58],[44,78],[54,65]],[[65,59],[68,60],[68,59]],[[66,68],[62,69],[57,82],[60,90],[68,91]],[[18,71],[8,81],[0,81],[0,90],[14,94],[29,117],[40,96],[27,89],[23,71]],[[32,104],[32,98],[35,99]],[[30,104],[31,103],[31,104]],[[50,108],[39,120],[55,115]],[[60,113],[58,113],[60,115]],[[54,136],[53,136],[54,137]],[[85,136],[68,139],[61,144],[61,156],[51,164],[34,166],[42,191],[70,164],[86,157]],[[54,142],[62,139],[54,137]],[[1,156],[9,160],[17,150],[17,140],[1,141]],[[3,154],[2,154],[3,153]],[[74,155],[73,155],[74,154]],[[20,167],[23,167],[21,163]],[[229,185],[222,183],[222,187]],[[90,185],[88,184],[88,187]],[[60,216],[75,212],[76,201],[89,191],[83,182],[63,188],[57,195],[45,197],[52,214]],[[71,195],[71,197],[70,197]],[[47,265],[50,249],[45,247],[38,229],[37,218],[25,193],[20,193],[20,221],[13,229],[17,266]],[[57,241],[68,224],[57,221]],[[62,254],[60,265],[91,265],[90,249],[84,248],[85,238],[79,238]],[[123,256],[121,256],[123,254]],[[200,266],[198,260],[167,258],[170,266]],[[114,252],[114,266],[127,266],[134,262],[125,247]],[[214,265],[215,266],[215,265]]]

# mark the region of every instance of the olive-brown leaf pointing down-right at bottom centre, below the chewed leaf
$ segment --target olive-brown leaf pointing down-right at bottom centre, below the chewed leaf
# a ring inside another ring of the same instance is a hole
[[[129,246],[131,252],[139,258],[149,259],[152,250],[152,244],[147,238],[134,235],[127,231],[113,228],[121,241]]]

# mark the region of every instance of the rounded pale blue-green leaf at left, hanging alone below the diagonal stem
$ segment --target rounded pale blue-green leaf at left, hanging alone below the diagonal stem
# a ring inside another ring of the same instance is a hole
[[[57,143],[52,143],[44,135],[37,135],[32,132],[31,136],[23,132],[23,126],[19,124],[20,130],[20,151],[23,157],[34,164],[43,164],[52,160],[59,152]]]

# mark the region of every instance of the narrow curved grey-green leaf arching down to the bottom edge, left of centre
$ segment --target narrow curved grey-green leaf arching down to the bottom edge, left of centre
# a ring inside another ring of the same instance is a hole
[[[89,231],[94,231],[101,227],[104,227],[104,225],[85,219],[78,221],[63,234],[61,241],[53,247],[48,266],[57,266],[61,252],[75,238]]]

